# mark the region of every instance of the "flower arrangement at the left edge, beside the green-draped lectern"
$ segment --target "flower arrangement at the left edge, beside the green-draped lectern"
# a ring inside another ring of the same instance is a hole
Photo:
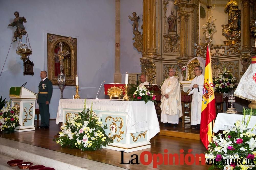
[[[16,113],[16,107],[11,107],[10,102],[6,104],[7,107],[0,110],[0,130],[4,133],[11,133],[19,126],[19,115]]]

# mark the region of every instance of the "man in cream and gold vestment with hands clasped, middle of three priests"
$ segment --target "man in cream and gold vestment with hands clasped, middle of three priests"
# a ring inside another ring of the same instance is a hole
[[[166,123],[165,126],[177,127],[179,117],[182,116],[182,106],[180,99],[179,80],[174,76],[175,69],[169,70],[169,78],[165,79],[161,89],[161,122]]]

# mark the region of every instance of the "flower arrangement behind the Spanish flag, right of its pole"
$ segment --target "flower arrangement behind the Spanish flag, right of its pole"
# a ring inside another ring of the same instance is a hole
[[[224,68],[224,70],[218,74],[218,77],[213,79],[213,88],[216,92],[228,93],[229,91],[236,89],[236,82],[237,79],[233,74]]]

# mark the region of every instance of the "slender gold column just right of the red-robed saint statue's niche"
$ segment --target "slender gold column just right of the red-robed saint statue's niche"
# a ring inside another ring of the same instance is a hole
[[[180,18],[180,57],[185,57],[187,55],[186,49],[187,47],[187,33],[188,30],[186,20],[189,18],[189,14],[187,12],[179,12]]]

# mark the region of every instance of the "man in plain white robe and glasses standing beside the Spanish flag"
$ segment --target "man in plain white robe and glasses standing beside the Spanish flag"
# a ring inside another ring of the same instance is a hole
[[[191,103],[191,126],[195,126],[195,129],[200,129],[201,121],[201,109],[202,98],[204,88],[204,75],[202,74],[202,67],[198,66],[194,68],[196,77],[192,80],[189,89],[191,90],[189,95],[193,94]]]

